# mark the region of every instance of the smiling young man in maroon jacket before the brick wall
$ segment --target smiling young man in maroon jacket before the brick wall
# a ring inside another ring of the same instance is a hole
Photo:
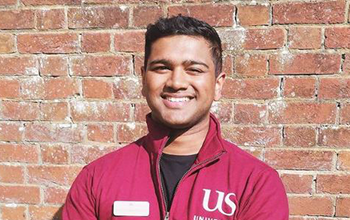
[[[223,140],[210,114],[225,79],[221,41],[191,17],[147,28],[148,135],[87,165],[63,220],[287,220],[275,170]]]

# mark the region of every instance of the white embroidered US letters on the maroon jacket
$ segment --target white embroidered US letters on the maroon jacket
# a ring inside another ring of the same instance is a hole
[[[209,199],[210,199],[210,189],[203,189],[204,190],[204,198],[203,198],[203,208],[208,212],[214,212],[218,210],[223,215],[231,216],[236,211],[236,204],[230,199],[231,196],[236,196],[234,193],[229,193],[225,195],[224,192],[216,190],[216,193],[218,194],[218,199],[216,202],[216,206],[214,208],[209,207]],[[228,205],[231,208],[231,212],[227,213],[223,210],[223,202],[225,202],[226,205]]]

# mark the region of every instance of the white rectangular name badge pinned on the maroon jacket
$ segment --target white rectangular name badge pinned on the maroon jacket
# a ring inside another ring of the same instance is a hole
[[[114,216],[148,216],[149,202],[146,201],[115,201]]]

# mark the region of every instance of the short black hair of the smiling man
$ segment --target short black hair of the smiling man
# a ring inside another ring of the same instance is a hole
[[[160,18],[156,23],[147,26],[147,32],[145,34],[145,68],[147,68],[152,44],[162,37],[173,35],[201,36],[206,39],[211,44],[215,75],[218,76],[221,73],[222,47],[216,30],[204,21],[193,17],[182,16],[181,14],[171,18]]]

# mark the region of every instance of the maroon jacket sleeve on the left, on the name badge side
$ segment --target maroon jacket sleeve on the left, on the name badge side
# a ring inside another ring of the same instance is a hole
[[[75,179],[62,211],[62,220],[97,220],[92,176],[84,168]]]

